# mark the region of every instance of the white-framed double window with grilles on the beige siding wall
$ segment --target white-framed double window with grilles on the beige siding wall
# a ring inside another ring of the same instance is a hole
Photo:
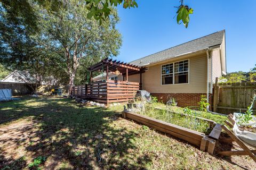
[[[162,65],[162,84],[188,83],[189,61]]]

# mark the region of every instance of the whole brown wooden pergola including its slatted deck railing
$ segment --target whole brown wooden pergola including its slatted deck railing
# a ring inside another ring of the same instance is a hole
[[[128,101],[134,98],[137,91],[142,87],[141,74],[145,72],[144,67],[113,61],[111,58],[104,58],[99,63],[90,66],[88,70],[91,72],[91,82],[72,87],[70,94],[105,104]],[[93,82],[92,73],[95,71],[106,72],[106,80]],[[123,75],[123,81],[109,80],[109,73]],[[129,75],[134,74],[140,74],[138,82],[129,81]]]

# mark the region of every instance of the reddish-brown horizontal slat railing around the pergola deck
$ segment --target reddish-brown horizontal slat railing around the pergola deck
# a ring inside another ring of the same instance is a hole
[[[139,89],[140,83],[138,82],[108,80],[71,87],[69,94],[100,103],[114,103],[134,98]]]

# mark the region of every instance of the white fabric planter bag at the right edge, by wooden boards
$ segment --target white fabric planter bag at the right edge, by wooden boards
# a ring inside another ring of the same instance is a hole
[[[234,125],[233,132],[239,139],[241,139],[243,142],[247,143],[247,145],[250,145],[250,146],[256,148],[256,133],[239,130],[239,128],[238,128],[239,125],[237,124],[239,114],[240,113],[234,113],[233,119],[236,121],[236,123]],[[253,116],[253,119],[247,125],[250,125],[253,128],[256,128],[256,117]]]

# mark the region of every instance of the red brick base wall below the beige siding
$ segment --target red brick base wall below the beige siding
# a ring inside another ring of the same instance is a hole
[[[201,95],[206,94],[183,94],[183,93],[178,93],[178,94],[155,94],[152,93],[152,96],[156,96],[158,98],[158,101],[163,101],[163,103],[166,103],[167,96],[170,95],[171,97],[174,97],[177,102],[178,106],[180,107],[186,107],[186,106],[198,106],[198,102],[200,100]],[[209,94],[209,103],[212,106],[212,94]],[[210,106],[210,108],[211,108]]]

